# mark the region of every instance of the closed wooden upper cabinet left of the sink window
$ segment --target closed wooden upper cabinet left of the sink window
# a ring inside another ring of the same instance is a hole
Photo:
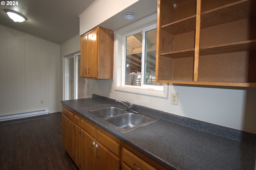
[[[80,76],[112,79],[114,62],[113,31],[96,27],[81,36]]]

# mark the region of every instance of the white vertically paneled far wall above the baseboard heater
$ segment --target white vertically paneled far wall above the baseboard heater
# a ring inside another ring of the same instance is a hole
[[[0,116],[60,111],[60,45],[0,25],[0,82]]]

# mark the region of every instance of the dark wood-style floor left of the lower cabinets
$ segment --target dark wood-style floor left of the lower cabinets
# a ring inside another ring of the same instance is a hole
[[[62,147],[61,113],[0,122],[0,170],[78,170]]]

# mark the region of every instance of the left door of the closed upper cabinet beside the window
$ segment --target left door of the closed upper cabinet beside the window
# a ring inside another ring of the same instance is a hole
[[[87,78],[88,35],[80,39],[80,77]]]

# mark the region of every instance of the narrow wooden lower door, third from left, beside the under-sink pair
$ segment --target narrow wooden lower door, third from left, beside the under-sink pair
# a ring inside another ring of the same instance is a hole
[[[80,164],[80,127],[74,124],[74,162],[79,167]]]

